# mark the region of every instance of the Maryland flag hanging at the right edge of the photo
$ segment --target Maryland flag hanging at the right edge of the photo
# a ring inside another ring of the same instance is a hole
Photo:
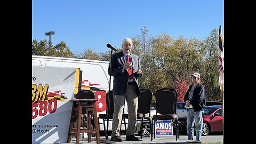
[[[224,84],[224,37],[221,34],[221,26],[219,29],[219,83],[220,83],[220,90],[223,91]]]

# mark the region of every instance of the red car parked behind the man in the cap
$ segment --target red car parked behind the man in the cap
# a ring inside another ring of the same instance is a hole
[[[211,132],[223,132],[222,119],[222,106],[215,105],[205,107],[202,135],[205,136]],[[178,117],[178,121],[179,132],[187,132],[187,116]]]

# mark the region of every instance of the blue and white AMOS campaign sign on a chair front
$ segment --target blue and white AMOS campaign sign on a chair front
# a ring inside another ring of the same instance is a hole
[[[155,121],[156,135],[173,135],[172,121],[157,120]]]

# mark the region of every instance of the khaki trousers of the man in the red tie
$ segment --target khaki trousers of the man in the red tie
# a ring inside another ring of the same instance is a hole
[[[125,101],[127,102],[128,126],[126,135],[134,135],[137,125],[138,95],[136,93],[137,85],[127,85],[125,95],[114,95],[114,114],[112,122],[111,137],[120,136],[122,115]]]

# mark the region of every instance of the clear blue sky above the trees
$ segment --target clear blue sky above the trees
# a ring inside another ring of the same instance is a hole
[[[143,27],[148,36],[201,40],[219,26],[225,36],[224,0],[32,0],[31,40],[49,41],[45,33],[55,31],[52,44],[63,41],[74,53],[88,48],[106,52],[107,43],[121,48],[125,37],[140,35]]]

